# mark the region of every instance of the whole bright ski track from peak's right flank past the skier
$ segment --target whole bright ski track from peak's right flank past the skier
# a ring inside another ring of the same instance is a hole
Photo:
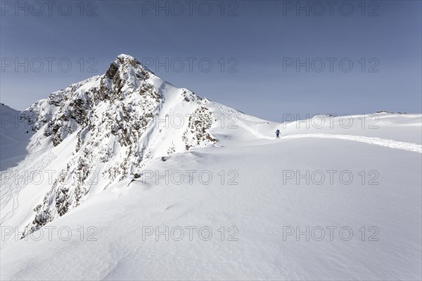
[[[251,133],[252,136],[255,136],[256,138],[267,138],[270,140],[276,139],[274,137],[264,136],[262,135],[262,133],[256,131],[255,129],[252,129],[250,126],[243,123],[240,120],[240,117],[242,115],[237,110],[234,110],[233,108],[230,108],[230,107],[226,107],[225,105],[222,105],[219,103],[214,103],[214,104],[219,110],[221,110],[221,112],[223,112],[224,115],[229,117],[229,119],[233,120],[233,122],[235,122],[236,125],[240,126],[242,129],[245,129],[246,131]],[[386,148],[395,148],[399,150],[407,150],[407,151],[422,153],[422,145],[418,145],[416,143],[406,143],[404,141],[394,141],[394,140],[389,140],[385,138],[376,138],[376,137],[368,137],[368,136],[335,135],[335,134],[329,134],[329,133],[302,133],[302,134],[297,134],[297,135],[281,137],[281,139],[286,139],[286,138],[331,138],[331,139],[346,140],[346,141],[357,141],[359,143],[380,145]]]

